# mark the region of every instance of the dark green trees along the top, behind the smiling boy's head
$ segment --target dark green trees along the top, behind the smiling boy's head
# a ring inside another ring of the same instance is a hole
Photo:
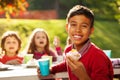
[[[28,0],[28,2],[30,3],[29,10],[57,9],[59,18],[66,18],[69,9],[81,4],[92,9],[96,19],[120,19],[120,0]]]

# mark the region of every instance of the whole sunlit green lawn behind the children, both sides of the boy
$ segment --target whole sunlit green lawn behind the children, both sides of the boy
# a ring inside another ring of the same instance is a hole
[[[91,35],[91,40],[101,49],[111,49],[112,57],[120,57],[120,24],[115,21],[95,21],[95,31]],[[54,36],[59,36],[61,46],[66,45],[67,33],[65,30],[65,20],[16,20],[0,19],[0,36],[7,30],[18,31],[22,39],[22,50],[27,45],[29,35],[35,28],[43,28],[48,32],[51,47],[53,47]]]

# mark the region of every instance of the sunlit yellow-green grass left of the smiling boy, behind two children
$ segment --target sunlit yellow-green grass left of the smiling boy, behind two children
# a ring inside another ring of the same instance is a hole
[[[64,47],[66,43],[66,31],[65,31],[65,21],[64,20],[16,20],[11,19],[10,21],[6,19],[0,19],[0,29],[2,36],[3,32],[7,30],[18,31],[20,37],[23,41],[22,50],[27,45],[29,35],[35,28],[43,28],[48,32],[51,46],[53,46],[53,38],[54,36],[59,36],[62,42],[62,47]],[[4,26],[4,27],[3,27]],[[65,34],[64,34],[65,33]]]

